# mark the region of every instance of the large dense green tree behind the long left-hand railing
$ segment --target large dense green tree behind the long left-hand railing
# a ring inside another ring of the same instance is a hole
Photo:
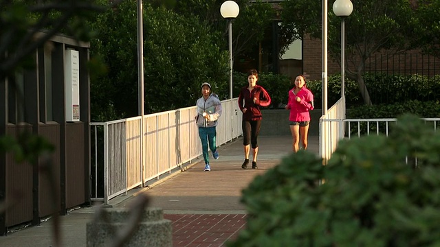
[[[111,106],[118,116],[137,115],[136,11],[136,1],[126,0],[92,23],[99,34],[91,51],[104,59],[108,71],[92,80],[94,110]],[[206,81],[227,97],[228,53],[217,45],[219,33],[196,17],[148,3],[143,16],[146,114],[194,105]]]

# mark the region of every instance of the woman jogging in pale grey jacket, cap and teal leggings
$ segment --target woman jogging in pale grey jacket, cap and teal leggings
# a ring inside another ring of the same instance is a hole
[[[199,137],[203,159],[205,160],[204,171],[209,172],[211,167],[209,165],[208,148],[212,151],[212,156],[215,159],[219,158],[215,137],[217,136],[217,120],[221,116],[222,108],[219,97],[211,93],[211,85],[208,82],[201,84],[201,95],[202,97],[197,99],[197,116],[195,119],[199,127]]]

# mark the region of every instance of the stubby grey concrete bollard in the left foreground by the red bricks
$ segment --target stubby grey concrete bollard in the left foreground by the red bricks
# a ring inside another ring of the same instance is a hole
[[[87,247],[112,246],[115,237],[129,227],[131,212],[127,209],[104,209],[106,220],[98,219],[87,223]],[[123,246],[130,247],[171,247],[173,235],[171,221],[164,220],[162,209],[146,208],[142,219]]]

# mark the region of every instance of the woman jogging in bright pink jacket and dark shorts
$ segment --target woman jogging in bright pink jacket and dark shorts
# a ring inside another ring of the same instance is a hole
[[[295,86],[289,90],[289,103],[285,106],[290,109],[289,121],[292,132],[292,150],[298,152],[299,143],[303,143],[303,149],[307,149],[307,136],[309,134],[310,114],[314,109],[314,95],[305,86],[304,75],[298,75]]]

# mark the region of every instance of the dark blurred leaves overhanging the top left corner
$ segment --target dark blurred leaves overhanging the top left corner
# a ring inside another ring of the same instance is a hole
[[[0,1],[0,81],[34,67],[34,51],[59,32],[89,40],[87,19],[104,7],[95,0]]]

